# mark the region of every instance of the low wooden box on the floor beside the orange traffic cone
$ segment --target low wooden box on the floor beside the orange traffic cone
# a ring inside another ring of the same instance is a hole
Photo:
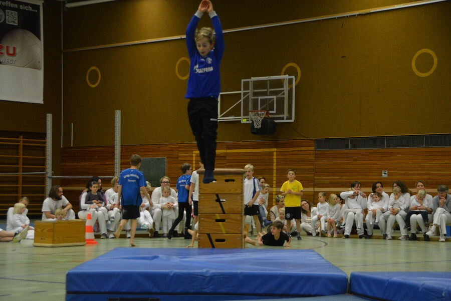
[[[74,246],[84,245],[85,220],[57,220],[35,222],[34,246]]]

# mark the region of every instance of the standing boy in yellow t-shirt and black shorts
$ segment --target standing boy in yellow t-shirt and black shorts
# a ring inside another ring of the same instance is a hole
[[[296,180],[296,170],[289,169],[287,171],[288,181],[286,181],[280,191],[282,195],[285,196],[285,218],[289,220],[287,222],[288,231],[291,231],[291,220],[294,218],[296,220],[296,229],[298,231],[298,240],[301,240],[301,196],[302,188],[301,182]]]

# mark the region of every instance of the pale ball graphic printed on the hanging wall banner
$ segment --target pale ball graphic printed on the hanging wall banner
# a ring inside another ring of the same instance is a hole
[[[8,32],[0,41],[0,63],[41,69],[41,40],[25,29]]]

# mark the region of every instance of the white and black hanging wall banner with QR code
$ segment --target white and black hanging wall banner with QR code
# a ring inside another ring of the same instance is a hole
[[[42,2],[0,0],[0,100],[43,103]]]

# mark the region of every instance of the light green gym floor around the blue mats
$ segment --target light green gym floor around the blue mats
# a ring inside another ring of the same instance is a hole
[[[0,301],[64,300],[68,270],[115,247],[129,246],[125,238],[96,240],[97,245],[55,248],[34,247],[33,240],[29,239],[19,243],[0,243]],[[182,248],[189,240],[137,237],[135,243],[142,248]],[[302,240],[292,241],[291,248],[315,250],[346,272],[348,277],[353,271],[451,271],[449,241],[342,239],[303,235]],[[296,260],[302,261],[302,257]],[[263,265],[262,262],[262,268]]]

